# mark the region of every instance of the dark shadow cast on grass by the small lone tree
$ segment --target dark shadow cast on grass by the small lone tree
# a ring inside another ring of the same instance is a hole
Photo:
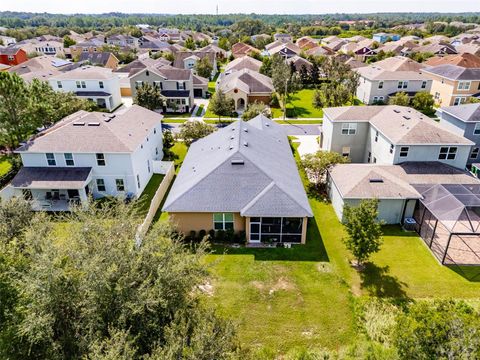
[[[366,290],[370,296],[392,297],[396,299],[408,299],[405,287],[407,284],[399,281],[389,274],[389,266],[377,266],[368,263],[360,273],[362,290]]]

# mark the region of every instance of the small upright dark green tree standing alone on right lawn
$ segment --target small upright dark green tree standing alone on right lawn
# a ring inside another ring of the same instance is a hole
[[[348,234],[345,245],[362,266],[382,245],[382,223],[377,220],[378,200],[362,200],[357,207],[345,204],[343,218]]]

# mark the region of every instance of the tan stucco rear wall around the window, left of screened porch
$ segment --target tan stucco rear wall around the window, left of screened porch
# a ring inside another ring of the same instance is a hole
[[[188,234],[190,231],[209,231],[213,229],[213,213],[169,213],[170,220],[178,231]],[[245,231],[245,218],[239,213],[233,214],[234,230]]]

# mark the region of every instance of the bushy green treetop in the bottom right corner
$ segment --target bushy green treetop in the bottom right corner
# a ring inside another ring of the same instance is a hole
[[[480,314],[464,302],[420,301],[400,314],[394,345],[401,359],[478,359]]]

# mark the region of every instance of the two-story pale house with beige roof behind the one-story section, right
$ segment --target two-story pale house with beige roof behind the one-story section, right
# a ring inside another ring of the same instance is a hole
[[[474,143],[404,106],[324,109],[321,148],[352,163],[396,165],[439,161],[464,169]]]

